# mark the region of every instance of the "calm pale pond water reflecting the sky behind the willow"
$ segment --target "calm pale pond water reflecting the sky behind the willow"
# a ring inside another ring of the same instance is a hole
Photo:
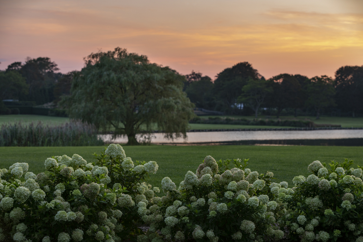
[[[349,139],[363,138],[363,130],[310,130],[310,131],[223,131],[188,132],[188,138],[167,140],[161,133],[153,134],[152,143],[199,143],[239,140],[286,140],[286,139]],[[111,141],[111,135],[100,135],[103,140]],[[138,140],[140,136],[137,136]],[[127,136],[112,140],[127,143]]]

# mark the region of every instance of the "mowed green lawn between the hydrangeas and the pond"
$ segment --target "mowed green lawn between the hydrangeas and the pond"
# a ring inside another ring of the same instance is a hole
[[[154,160],[159,165],[156,174],[151,174],[150,184],[161,187],[161,180],[168,176],[178,186],[187,171],[195,172],[207,155],[219,159],[250,159],[252,171],[263,173],[271,171],[276,182],[287,181],[292,187],[292,179],[298,175],[308,176],[307,166],[314,160],[328,163],[331,160],[354,160],[363,165],[362,147],[338,146],[125,146],[126,156],[135,160]],[[0,168],[9,168],[16,162],[29,164],[29,171],[38,174],[44,171],[44,160],[51,156],[81,155],[92,162],[94,152],[100,153],[103,147],[0,147]],[[356,165],[353,166],[356,168]]]

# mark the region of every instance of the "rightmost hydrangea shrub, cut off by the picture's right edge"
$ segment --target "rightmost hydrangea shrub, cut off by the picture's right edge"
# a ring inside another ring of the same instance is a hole
[[[314,161],[307,178],[293,179],[295,187],[284,198],[288,213],[280,226],[287,226],[289,237],[301,241],[363,241],[362,168],[350,168],[352,160],[329,164]]]

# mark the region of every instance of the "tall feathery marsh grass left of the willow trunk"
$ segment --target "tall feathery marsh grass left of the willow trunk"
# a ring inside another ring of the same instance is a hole
[[[80,121],[49,125],[42,122],[2,124],[0,146],[103,145],[96,128]]]

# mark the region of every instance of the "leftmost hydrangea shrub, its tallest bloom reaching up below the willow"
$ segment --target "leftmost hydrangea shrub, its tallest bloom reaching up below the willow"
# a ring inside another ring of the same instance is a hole
[[[159,191],[145,181],[158,164],[134,163],[118,144],[94,155],[91,163],[77,154],[48,158],[38,175],[27,163],[1,169],[0,241],[119,242],[144,234],[140,207]]]

